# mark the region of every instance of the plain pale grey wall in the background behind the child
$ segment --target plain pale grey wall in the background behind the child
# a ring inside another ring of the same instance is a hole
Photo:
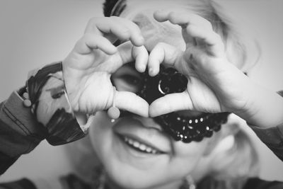
[[[23,86],[31,69],[64,59],[83,34],[89,18],[101,16],[102,1],[1,0],[0,101]],[[248,38],[257,39],[262,55],[250,77],[272,91],[283,89],[283,1],[219,0]],[[250,50],[252,53],[253,50]],[[252,55],[256,57],[256,55]],[[283,162],[258,139],[262,178],[283,181]],[[71,171],[63,147],[42,142],[21,156],[0,181],[21,177],[56,177]]]

